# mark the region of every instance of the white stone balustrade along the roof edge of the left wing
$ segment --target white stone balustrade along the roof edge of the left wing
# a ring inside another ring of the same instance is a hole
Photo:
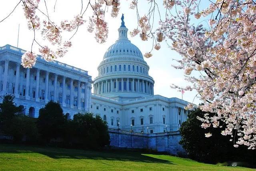
[[[11,51],[14,51],[14,52],[19,52],[20,54],[24,54],[24,53],[26,52],[25,50],[22,50],[22,49],[20,49],[20,48],[16,48],[16,47],[14,47],[14,46],[10,46],[10,45],[8,45],[8,44],[5,45],[5,46],[3,46],[3,47],[0,47],[0,51],[2,51],[2,50],[11,50]],[[43,58],[42,56],[40,56],[40,55],[37,56],[37,60],[40,60],[40,61],[42,61],[42,62],[46,62],[46,61],[44,60],[44,58]],[[75,68],[75,67],[73,67],[73,66],[70,66],[70,65],[67,65],[67,64],[58,62],[58,61],[51,61],[51,62],[49,62],[49,63],[54,64],[54,65],[56,65],[56,66],[58,66],[58,67],[61,67],[61,68],[67,68],[67,69],[69,69],[69,70],[74,70],[74,71],[76,71],[76,72],[80,72],[80,73],[82,73],[82,74],[88,75],[88,71],[81,70],[81,69],[79,69],[79,68]]]

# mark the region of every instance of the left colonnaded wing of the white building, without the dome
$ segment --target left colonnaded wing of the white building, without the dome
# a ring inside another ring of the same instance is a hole
[[[15,96],[22,113],[38,117],[39,109],[52,100],[60,103],[70,118],[89,110],[92,77],[87,71],[58,61],[37,57],[33,68],[21,66],[26,51],[10,45],[0,47],[0,95]]]

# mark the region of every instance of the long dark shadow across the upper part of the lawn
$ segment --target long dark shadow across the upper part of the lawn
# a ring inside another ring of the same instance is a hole
[[[84,151],[78,149],[0,144],[0,155],[1,153],[40,153],[53,159],[94,159],[174,164],[168,160],[157,159],[132,151]]]

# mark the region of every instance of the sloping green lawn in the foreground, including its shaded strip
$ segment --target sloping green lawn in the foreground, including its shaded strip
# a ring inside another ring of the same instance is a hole
[[[0,144],[0,170],[252,170],[190,159],[125,151],[83,151]]]

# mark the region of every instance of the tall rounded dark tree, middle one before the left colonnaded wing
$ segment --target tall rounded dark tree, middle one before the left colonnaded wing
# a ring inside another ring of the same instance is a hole
[[[51,138],[62,137],[65,124],[66,119],[59,103],[49,101],[39,110],[37,126],[44,141],[49,142]]]

